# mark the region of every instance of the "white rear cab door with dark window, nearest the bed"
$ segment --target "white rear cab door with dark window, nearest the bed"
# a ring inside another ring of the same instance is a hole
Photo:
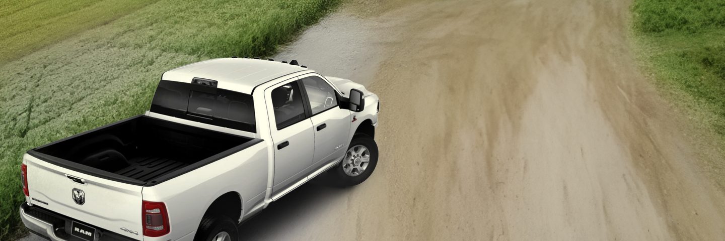
[[[307,178],[315,151],[315,132],[297,80],[294,77],[265,90],[275,149],[273,195]]]

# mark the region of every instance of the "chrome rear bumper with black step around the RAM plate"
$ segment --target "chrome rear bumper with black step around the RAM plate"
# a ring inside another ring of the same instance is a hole
[[[22,203],[22,205],[20,205],[20,219],[22,219],[22,223],[25,224],[25,227],[28,227],[28,231],[47,240],[80,240],[78,237],[73,237],[69,232],[66,232],[66,230],[70,229],[70,221],[73,219],[70,219],[67,216],[62,216],[59,213],[49,211],[45,208],[29,206],[28,203]],[[96,227],[96,230],[99,230],[99,237],[96,238],[97,241],[136,241],[120,234],[99,229],[98,227]]]

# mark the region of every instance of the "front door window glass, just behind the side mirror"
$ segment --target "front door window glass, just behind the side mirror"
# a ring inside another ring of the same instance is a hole
[[[305,77],[302,79],[302,84],[305,85],[305,90],[307,90],[307,98],[310,101],[312,114],[318,114],[337,106],[335,89],[322,78],[317,76]]]

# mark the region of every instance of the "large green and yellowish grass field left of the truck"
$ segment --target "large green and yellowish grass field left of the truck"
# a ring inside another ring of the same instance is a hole
[[[0,2],[0,240],[19,232],[22,154],[143,113],[167,69],[266,56],[339,1]]]

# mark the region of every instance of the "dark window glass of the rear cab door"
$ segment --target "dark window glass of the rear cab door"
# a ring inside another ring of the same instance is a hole
[[[297,81],[272,90],[272,106],[277,130],[305,119],[305,106],[299,93]]]

